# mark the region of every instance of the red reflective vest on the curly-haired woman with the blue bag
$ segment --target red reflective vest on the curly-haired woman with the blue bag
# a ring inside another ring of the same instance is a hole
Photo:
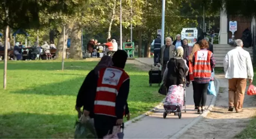
[[[210,59],[212,52],[209,50],[199,50],[195,54],[195,64],[193,69],[194,78],[210,78],[212,73]]]

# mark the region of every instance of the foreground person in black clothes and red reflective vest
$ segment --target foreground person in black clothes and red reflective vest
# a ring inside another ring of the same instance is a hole
[[[95,101],[94,124],[98,138],[112,133],[113,126],[123,123],[130,88],[129,75],[124,71],[127,60],[124,50],[112,56],[113,66],[99,70]]]

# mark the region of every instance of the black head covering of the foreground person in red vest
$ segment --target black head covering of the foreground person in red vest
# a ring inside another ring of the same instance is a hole
[[[126,51],[117,50],[112,56],[113,66],[124,69],[127,57]]]

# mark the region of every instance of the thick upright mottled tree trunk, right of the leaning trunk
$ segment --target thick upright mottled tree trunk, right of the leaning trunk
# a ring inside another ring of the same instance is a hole
[[[70,34],[71,46],[70,46],[70,58],[71,59],[83,59],[82,45],[81,45],[81,25],[79,22],[75,23]]]

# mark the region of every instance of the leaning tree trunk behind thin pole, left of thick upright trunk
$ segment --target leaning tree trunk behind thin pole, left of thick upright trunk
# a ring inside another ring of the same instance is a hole
[[[68,36],[70,35],[70,32],[73,28],[73,23],[68,23],[65,25],[65,44],[67,45],[67,41],[68,41]],[[63,46],[63,29],[61,34],[59,35],[58,38],[58,44],[57,44],[57,50],[56,50],[56,59],[62,59],[62,53],[63,53],[63,47],[67,47],[67,46]],[[66,54],[64,54],[64,57],[66,57]]]

